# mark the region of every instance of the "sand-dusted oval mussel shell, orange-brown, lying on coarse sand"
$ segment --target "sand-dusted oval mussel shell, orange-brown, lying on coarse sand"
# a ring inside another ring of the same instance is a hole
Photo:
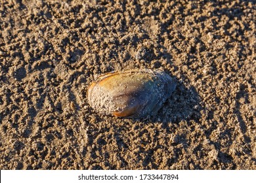
[[[87,90],[91,107],[105,115],[143,118],[154,115],[175,90],[171,76],[150,69],[100,76]]]

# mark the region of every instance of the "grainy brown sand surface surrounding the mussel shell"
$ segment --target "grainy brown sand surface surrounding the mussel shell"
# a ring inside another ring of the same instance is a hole
[[[256,169],[255,1],[0,2],[0,169]],[[139,68],[177,80],[158,116],[89,107]]]

